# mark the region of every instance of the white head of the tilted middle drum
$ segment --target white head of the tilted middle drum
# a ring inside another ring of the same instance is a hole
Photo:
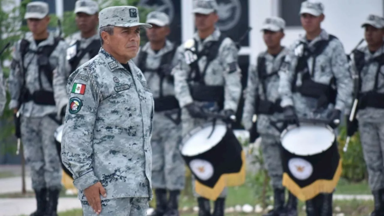
[[[208,136],[212,132],[212,125],[204,127],[202,130],[194,133],[184,143],[181,154],[184,156],[196,156],[210,150],[217,145],[227,132],[225,125],[215,125],[215,130],[210,138]]]

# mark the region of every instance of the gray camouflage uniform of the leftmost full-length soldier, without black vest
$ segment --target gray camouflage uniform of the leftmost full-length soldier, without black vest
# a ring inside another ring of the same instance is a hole
[[[26,88],[31,94],[40,90],[39,73],[41,73],[41,84],[46,91],[53,91],[51,84],[43,72],[38,70],[37,55],[33,52],[45,45],[53,45],[54,35],[38,44],[31,34],[27,34],[26,40],[30,42],[29,52],[23,59],[23,65],[26,68],[24,74],[20,71],[20,40],[14,47],[12,53],[15,67],[11,68],[9,76],[9,91],[11,109],[18,108],[18,99],[22,88]],[[49,57],[52,68],[59,66],[59,56],[65,52],[67,44],[60,41]],[[23,78],[25,77],[25,86]],[[55,147],[54,132],[58,123],[50,116],[56,113],[55,105],[37,105],[34,101],[22,103],[20,106],[21,117],[21,140],[24,146],[24,156],[26,163],[31,167],[31,178],[33,189],[41,188],[61,188],[61,166],[59,156]]]

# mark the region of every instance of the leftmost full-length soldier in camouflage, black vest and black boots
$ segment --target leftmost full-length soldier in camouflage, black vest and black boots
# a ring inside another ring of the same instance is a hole
[[[61,189],[61,166],[55,147],[56,121],[52,71],[67,45],[47,30],[48,4],[31,2],[25,17],[32,32],[19,40],[12,54],[9,77],[10,108],[19,112],[26,163],[31,166],[37,211],[31,215],[56,215]],[[48,202],[47,202],[48,200]]]

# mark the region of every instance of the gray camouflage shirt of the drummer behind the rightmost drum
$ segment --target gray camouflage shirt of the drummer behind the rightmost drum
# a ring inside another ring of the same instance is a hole
[[[328,104],[325,109],[317,109],[317,99],[302,96],[299,92],[292,93],[291,82],[293,80],[295,67],[298,56],[297,46],[300,42],[307,43],[311,48],[319,40],[328,40],[329,35],[325,30],[322,30],[320,35],[312,40],[309,44],[305,35],[296,40],[290,47],[290,51],[286,55],[285,63],[279,72],[280,85],[279,93],[281,95],[281,106],[294,106],[296,114],[305,118],[327,118],[333,109],[341,111],[346,110],[352,103],[353,82],[349,73],[349,66],[344,52],[343,44],[337,38],[329,42],[323,53],[316,58],[315,68],[311,68],[313,58],[308,59],[309,71],[314,71],[312,80],[318,83],[329,85],[333,77],[336,78],[336,105]],[[300,48],[299,48],[300,49]],[[299,51],[300,52],[300,51]],[[301,73],[298,74],[296,86],[301,86]]]

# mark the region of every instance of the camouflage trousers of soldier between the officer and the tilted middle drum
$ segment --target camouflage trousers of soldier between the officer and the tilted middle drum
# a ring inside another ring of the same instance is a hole
[[[152,186],[159,189],[182,190],[185,185],[185,164],[180,154],[181,126],[161,113],[155,113],[152,147]]]

